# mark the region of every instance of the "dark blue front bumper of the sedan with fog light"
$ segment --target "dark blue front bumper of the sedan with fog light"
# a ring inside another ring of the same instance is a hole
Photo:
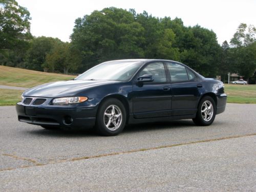
[[[36,125],[62,127],[92,127],[96,120],[96,109],[58,106],[26,106],[16,104],[18,120]]]

